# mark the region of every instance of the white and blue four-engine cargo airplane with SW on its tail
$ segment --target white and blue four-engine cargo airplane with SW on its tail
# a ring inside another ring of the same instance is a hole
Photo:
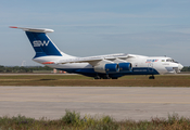
[[[143,56],[127,53],[116,53],[97,56],[78,57],[62,52],[47,32],[53,32],[47,28],[25,28],[10,26],[10,28],[23,29],[28,37],[36,55],[33,61],[42,65],[73,74],[80,74],[94,79],[117,79],[126,75],[154,75],[177,74],[183,66],[166,56]]]

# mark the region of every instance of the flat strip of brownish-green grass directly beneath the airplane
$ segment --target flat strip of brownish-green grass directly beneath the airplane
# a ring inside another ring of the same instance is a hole
[[[190,76],[165,75],[124,76],[119,79],[100,79],[80,75],[1,75],[0,86],[48,86],[48,87],[190,87]]]

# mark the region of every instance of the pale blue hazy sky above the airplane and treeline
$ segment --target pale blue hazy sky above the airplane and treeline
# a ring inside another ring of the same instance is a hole
[[[40,65],[23,30],[50,28],[74,56],[169,56],[190,66],[190,0],[0,0],[0,65]]]

